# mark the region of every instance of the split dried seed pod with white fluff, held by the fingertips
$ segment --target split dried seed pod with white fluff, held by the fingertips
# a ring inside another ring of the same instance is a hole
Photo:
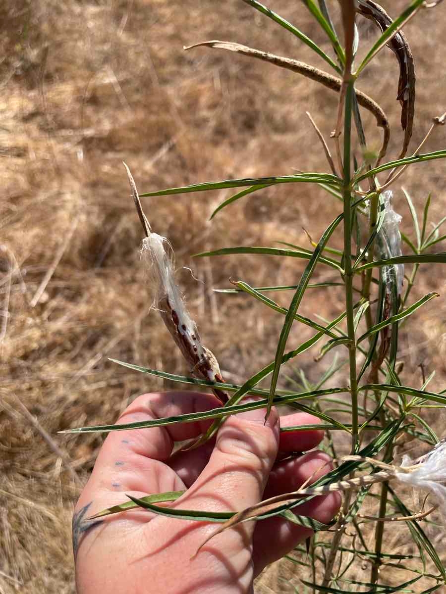
[[[134,179],[125,163],[124,166],[139,218],[146,233],[141,257],[151,276],[153,307],[161,314],[172,338],[190,365],[191,372],[203,380],[224,382],[218,362],[211,350],[203,345],[197,326],[187,311],[184,297],[175,282],[172,248],[167,239],[158,233],[152,233],[150,223],[143,213]],[[228,401],[228,396],[223,390],[213,388],[213,393],[222,403]]]

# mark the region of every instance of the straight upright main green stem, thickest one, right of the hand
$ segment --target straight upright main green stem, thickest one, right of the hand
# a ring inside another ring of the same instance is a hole
[[[351,393],[351,451],[356,450],[358,438],[358,394],[356,381],[356,339],[353,314],[353,270],[351,266],[351,113],[353,109],[354,79],[348,81],[344,111],[344,282],[346,286],[348,363]]]

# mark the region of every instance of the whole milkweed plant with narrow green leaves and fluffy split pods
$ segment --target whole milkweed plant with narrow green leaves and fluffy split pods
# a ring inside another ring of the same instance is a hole
[[[225,514],[198,514],[193,510],[182,510],[180,517],[219,522],[215,533],[231,529],[238,522],[261,522],[278,514],[290,522],[312,527],[314,535],[306,546],[297,547],[288,557],[300,567],[299,573],[303,576],[300,592],[421,592],[421,588],[425,594],[435,592],[441,584],[446,583],[446,571],[423,526],[428,522],[433,523],[432,518],[436,516],[431,514],[437,508],[439,511],[446,509],[446,444],[439,440],[423,419],[423,409],[444,407],[446,390],[438,393],[428,391],[433,374],[423,377],[420,389],[404,385],[400,380],[401,365],[397,356],[398,329],[401,324],[417,309],[438,297],[438,293],[432,292],[413,301],[411,290],[421,264],[446,263],[445,252],[432,252],[432,248],[445,238],[441,235],[441,225],[446,217],[437,223],[429,219],[430,195],[423,212],[418,214],[410,195],[404,191],[416,236],[416,241],[411,241],[400,232],[401,216],[397,212],[398,205],[392,200],[391,188],[395,187],[395,182],[413,163],[446,157],[446,150],[431,153],[422,151],[430,135],[444,124],[446,113],[432,120],[431,128],[422,143],[407,156],[413,128],[416,79],[413,55],[402,31],[409,20],[417,18],[423,10],[435,10],[441,0],[414,0],[395,20],[371,0],[343,0],[338,7],[342,24],[339,34],[325,0],[317,3],[303,0],[302,10],[308,10],[326,34],[327,45],[330,46],[328,52],[257,0],[241,1],[309,46],[326,62],[329,72],[234,42],[211,40],[197,45],[235,52],[278,68],[286,68],[337,93],[338,110],[334,114],[335,127],[329,140],[323,137],[308,113],[325,153],[328,172],[228,179],[140,195],[165,196],[237,188],[236,194],[215,209],[213,217],[222,208],[230,207],[235,201],[272,185],[316,184],[331,195],[334,204],[338,205],[338,215],[326,227],[319,241],[312,242],[314,249],[288,244],[287,249],[230,247],[199,254],[286,255],[307,262],[296,286],[252,287],[246,282],[238,281],[233,282],[232,288],[224,289],[226,293],[247,293],[247,298],[260,301],[265,307],[274,309],[284,317],[274,361],[247,378],[243,385],[230,384],[224,381],[216,357],[203,345],[197,326],[186,309],[184,296],[175,282],[172,249],[167,239],[152,231],[140,205],[133,177],[125,166],[131,194],[145,233],[142,259],[152,277],[153,309],[159,311],[183,353],[190,366],[191,377],[130,363],[118,363],[146,374],[211,389],[221,400],[222,406],[175,418],[127,425],[90,426],[68,429],[66,432],[109,432],[213,419],[210,428],[199,440],[187,444],[187,447],[197,447],[215,435],[228,415],[244,410],[266,407],[268,415],[272,406],[287,405],[311,412],[321,419],[318,427],[328,431],[326,448],[336,461],[333,470],[299,491],[262,501],[246,510],[228,511]],[[357,64],[356,53],[360,39],[356,21],[361,18],[367,18],[375,24],[379,37]],[[387,116],[375,100],[356,89],[357,80],[385,46],[392,50],[398,62],[397,99],[401,106],[403,129],[403,143],[398,158],[390,161],[385,160],[391,132]],[[382,129],[379,151],[371,150],[367,144],[361,115],[363,110],[372,113],[376,125]],[[329,146],[332,147],[331,150]],[[329,245],[332,234],[338,228],[343,230],[341,250]],[[404,251],[409,252],[407,255],[403,254],[402,244],[406,244]],[[319,266],[330,267],[337,278],[333,282],[311,283]],[[343,286],[344,308],[334,320],[319,323],[300,315],[299,308],[309,287],[313,290],[327,290],[328,287],[329,290],[330,285],[340,284]],[[285,289],[292,290],[293,297],[288,307],[282,308],[267,293]],[[293,324],[309,326],[313,335],[297,348],[287,350]],[[332,364],[323,369],[316,384],[311,384],[302,375],[301,382],[296,382],[294,390],[279,390],[282,365],[287,361],[299,361],[299,355],[316,343],[322,345],[317,358],[318,361],[322,359],[321,367],[323,356],[332,349],[343,352],[344,357],[335,357]],[[348,385],[324,387],[330,378],[338,377],[337,372],[343,366],[348,368]],[[265,378],[269,381],[269,388],[257,387]],[[244,397],[248,394],[255,395],[257,400],[246,402]],[[345,419],[346,415],[348,423],[336,418],[341,416]],[[298,431],[315,426],[288,427],[285,430]],[[347,456],[337,454],[337,435],[341,432],[347,434],[351,442],[351,451]],[[407,455],[398,460],[395,443],[397,439],[401,441],[404,438],[410,438],[412,443],[416,440],[415,443],[427,444],[428,453],[416,460]],[[378,492],[376,489],[370,490],[375,483],[379,484]],[[420,489],[421,503],[415,510],[410,510],[403,503],[411,488]],[[301,503],[318,494],[335,490],[342,492],[343,505],[332,523],[324,525],[299,516]],[[95,517],[124,513],[137,506],[169,515],[169,505],[161,506],[157,503],[173,501],[180,495],[181,492],[175,492],[123,501]],[[363,508],[366,508],[366,513],[363,513]],[[178,517],[178,513],[175,517]],[[395,553],[391,548],[389,522],[398,522],[401,530],[407,527],[414,543],[412,552]],[[436,529],[441,530],[441,526]],[[356,579],[348,579],[348,570],[355,567],[355,564],[362,568],[361,580],[357,579],[357,573]],[[396,586],[393,583],[380,583],[381,576],[385,576],[382,571],[385,567],[392,568],[392,571],[401,570],[404,582]]]

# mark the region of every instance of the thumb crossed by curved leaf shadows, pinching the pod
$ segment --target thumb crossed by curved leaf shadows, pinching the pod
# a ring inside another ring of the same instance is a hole
[[[277,411],[266,423],[265,412],[250,410],[225,421],[208,464],[178,507],[240,511],[259,503],[279,444]]]

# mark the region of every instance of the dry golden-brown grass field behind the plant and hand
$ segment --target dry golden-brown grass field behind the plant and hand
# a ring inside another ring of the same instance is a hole
[[[405,3],[384,4],[395,15]],[[275,0],[271,7],[325,43],[299,2]],[[0,23],[0,592],[73,593],[71,511],[102,436],[57,431],[112,422],[137,394],[172,387],[112,365],[109,356],[186,371],[157,315],[149,313],[141,229],[121,162],[140,191],[326,170],[304,112],[328,135],[337,97],[241,56],[183,52],[183,45],[200,40],[229,39],[324,68],[293,36],[237,0],[6,0]],[[443,23],[441,7],[406,28],[418,81],[412,147],[445,109]],[[365,47],[375,31],[369,23],[360,29]],[[359,84],[390,116],[392,156],[401,139],[396,78],[397,65],[385,50]],[[370,143],[377,144],[378,129],[365,120]],[[426,150],[444,143],[441,128]],[[433,220],[444,214],[445,172],[438,161],[413,166],[404,178],[418,206],[432,192]],[[211,287],[228,286],[230,276],[252,285],[292,284],[301,266],[272,257],[193,261],[191,254],[277,240],[306,245],[302,227],[317,237],[339,206],[322,190],[282,185],[209,223],[227,195],[143,204],[156,232],[171,240],[178,265],[205,281],[181,274],[206,344],[226,377],[243,381],[274,358],[281,317],[249,298],[215,295]],[[395,209],[410,234],[398,190]],[[326,274],[321,268],[318,279]],[[420,276],[414,298],[426,289],[444,293],[442,267],[426,265]],[[278,299],[286,305],[289,296]],[[341,303],[341,293],[313,290],[303,312],[332,317]],[[444,304],[442,296],[402,332],[404,378],[414,386],[423,363],[426,371],[437,370],[432,388],[444,388]],[[290,345],[305,334],[296,326]],[[313,355],[295,366],[315,380],[326,362],[316,365]],[[440,413],[440,435],[443,424]],[[274,576],[259,592],[288,591],[284,574]]]

